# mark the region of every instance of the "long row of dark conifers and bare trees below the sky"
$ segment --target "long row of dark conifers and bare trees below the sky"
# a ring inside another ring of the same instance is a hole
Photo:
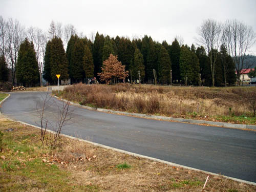
[[[249,67],[244,59],[255,42],[252,28],[237,20],[225,24],[204,20],[198,28],[197,48],[181,45],[177,38],[169,45],[147,35],[131,40],[97,32],[88,38],[82,33],[77,35],[72,25],[61,28],[60,23],[54,22],[48,33],[36,28],[26,31],[17,20],[6,21],[2,17],[0,25],[0,74],[6,74],[1,72],[5,68],[1,66],[8,64],[13,83],[16,77],[17,83],[26,86],[39,84],[42,77],[55,84],[56,74],[61,74],[61,80],[70,78],[71,83],[88,83],[94,77],[100,81],[103,61],[111,54],[125,66],[129,82],[140,79],[144,83],[231,86],[236,81],[240,83],[241,70]],[[6,80],[4,75],[1,78]]]

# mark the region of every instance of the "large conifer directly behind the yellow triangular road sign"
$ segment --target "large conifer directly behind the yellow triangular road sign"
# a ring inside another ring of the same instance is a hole
[[[69,79],[69,66],[61,38],[54,37],[51,41],[50,68],[51,77],[57,83],[56,74],[60,74],[60,80]]]

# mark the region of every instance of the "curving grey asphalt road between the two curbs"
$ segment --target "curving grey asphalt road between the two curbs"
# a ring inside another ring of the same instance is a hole
[[[39,125],[38,109],[46,93],[11,93],[0,111],[12,119]],[[52,98],[46,117],[55,125],[61,101]],[[121,150],[208,172],[256,182],[256,132],[114,115],[71,107],[62,133]]]

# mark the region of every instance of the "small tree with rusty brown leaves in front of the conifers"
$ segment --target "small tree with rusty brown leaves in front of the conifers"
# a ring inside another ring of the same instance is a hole
[[[129,72],[125,71],[125,66],[118,61],[117,56],[110,54],[109,58],[103,61],[103,67],[101,67],[102,72],[98,73],[101,81],[106,81],[106,83],[117,83],[118,79],[125,79]]]

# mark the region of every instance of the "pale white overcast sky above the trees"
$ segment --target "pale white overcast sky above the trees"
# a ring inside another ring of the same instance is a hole
[[[111,37],[145,34],[171,44],[176,36],[196,44],[197,28],[204,19],[225,22],[238,19],[256,32],[255,0],[0,0],[0,15],[19,20],[25,27],[48,31],[52,20],[72,24],[88,35],[99,32]],[[256,55],[256,46],[248,53]]]

